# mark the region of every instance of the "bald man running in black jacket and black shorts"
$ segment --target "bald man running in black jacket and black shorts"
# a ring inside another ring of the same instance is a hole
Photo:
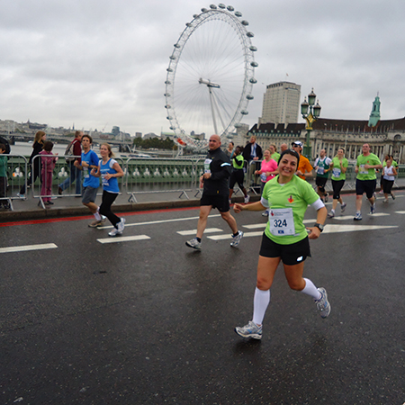
[[[202,234],[207,226],[208,215],[212,208],[220,211],[220,216],[232,229],[231,247],[237,247],[243,232],[238,230],[235,218],[229,212],[229,175],[232,172],[229,157],[220,149],[220,137],[211,135],[209,150],[204,161],[204,173],[200,177],[200,188],[203,188],[200,201],[200,217],[195,238],[185,242],[185,245],[201,250]]]

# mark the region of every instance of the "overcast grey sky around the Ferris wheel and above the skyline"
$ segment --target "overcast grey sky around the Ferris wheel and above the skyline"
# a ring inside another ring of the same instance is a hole
[[[168,131],[166,67],[173,45],[211,3],[201,0],[0,0],[0,119],[134,134]],[[215,3],[218,4],[218,3]],[[405,116],[401,0],[236,0],[257,47],[255,100],[266,85],[314,87],[330,119]],[[288,76],[286,76],[288,75]],[[302,121],[302,119],[300,119]]]

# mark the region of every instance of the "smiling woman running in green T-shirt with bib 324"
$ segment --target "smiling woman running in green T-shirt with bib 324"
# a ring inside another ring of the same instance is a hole
[[[317,288],[311,280],[302,277],[304,261],[311,257],[309,239],[320,237],[328,211],[311,184],[295,175],[299,161],[297,152],[285,150],[278,164],[279,175],[266,183],[261,201],[247,205],[236,203],[233,207],[237,213],[270,209],[257,264],[253,319],[244,327],[235,329],[243,338],[262,338],[263,320],[270,303],[270,287],[281,261],[290,288],[310,295],[322,318],[327,318],[330,313],[326,290]],[[317,222],[306,229],[303,217],[309,204],[317,211]]]

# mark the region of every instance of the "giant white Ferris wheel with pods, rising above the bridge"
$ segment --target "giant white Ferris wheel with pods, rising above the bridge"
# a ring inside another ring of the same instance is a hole
[[[175,42],[166,74],[166,118],[181,147],[204,148],[212,133],[231,138],[253,99],[257,62],[242,14],[211,4],[194,14]]]

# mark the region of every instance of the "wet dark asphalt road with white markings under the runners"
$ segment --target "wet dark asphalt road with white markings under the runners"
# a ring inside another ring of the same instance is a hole
[[[212,211],[202,252],[178,233],[196,209],[126,214],[124,236],[148,238],[120,243],[88,219],[0,228],[0,247],[56,245],[0,253],[0,403],[403,404],[405,193],[360,222],[345,199],[304,272],[329,319],[280,267],[262,341],[233,331],[251,319],[260,213],[235,215],[251,235],[232,248],[206,238],[229,235]],[[392,228],[348,231],[372,226]]]

